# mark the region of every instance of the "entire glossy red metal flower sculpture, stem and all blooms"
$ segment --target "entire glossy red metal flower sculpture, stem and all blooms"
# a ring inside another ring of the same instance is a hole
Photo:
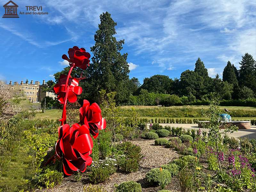
[[[68,76],[60,75],[59,82],[53,88],[58,95],[57,99],[63,104],[61,124],[58,129],[59,139],[55,145],[55,155],[44,165],[46,166],[54,158],[58,158],[62,161],[64,173],[72,175],[76,171],[84,172],[86,166],[92,163],[92,158],[89,156],[93,147],[92,137],[97,138],[99,129],[106,128],[106,120],[102,118],[101,109],[97,103],[90,105],[89,101],[84,100],[84,104],[79,110],[79,124],[73,124],[71,127],[67,124],[67,102],[76,102],[77,95],[82,93],[82,87],[78,84],[83,79],[71,77],[70,74],[76,67],[86,69],[91,57],[84,48],[79,49],[77,46],[68,50],[68,56],[62,55],[62,58],[68,60],[70,65]]]

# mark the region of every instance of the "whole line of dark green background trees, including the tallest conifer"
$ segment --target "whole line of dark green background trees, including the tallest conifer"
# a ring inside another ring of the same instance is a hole
[[[91,47],[93,53],[92,61],[87,70],[74,70],[73,77],[86,76],[85,81],[80,82],[84,92],[78,96],[78,101],[82,103],[86,98],[90,102],[100,102],[100,90],[116,92],[116,102],[119,104],[129,104],[131,99],[146,93],[174,95],[174,97],[186,97],[188,102],[202,100],[207,94],[216,92],[221,100],[253,99],[256,94],[256,62],[252,55],[245,53],[239,62],[237,69],[227,62],[223,70],[223,77],[217,74],[215,78],[208,75],[204,62],[198,58],[194,70],[186,70],[181,73],[180,78],[169,78],[165,75],[154,75],[146,77],[143,84],[138,78],[129,78],[129,65],[127,63],[127,53],[121,54],[124,39],[117,41],[117,23],[111,18],[110,13],[105,12],[100,15],[99,29],[94,35],[95,44]],[[57,83],[60,74],[68,74],[70,67],[54,74],[55,82],[48,81],[47,91],[51,91]],[[184,99],[184,98],[183,98]],[[154,104],[158,104],[163,97],[154,97]],[[131,102],[130,102],[131,103]]]

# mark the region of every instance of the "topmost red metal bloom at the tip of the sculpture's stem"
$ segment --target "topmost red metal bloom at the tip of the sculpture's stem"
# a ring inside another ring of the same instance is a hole
[[[70,64],[75,63],[76,67],[79,67],[84,70],[87,68],[87,66],[90,63],[89,59],[91,55],[90,53],[86,52],[84,48],[79,49],[77,46],[74,46],[73,48],[69,48],[68,56],[66,54],[62,55],[62,59],[67,60]]]

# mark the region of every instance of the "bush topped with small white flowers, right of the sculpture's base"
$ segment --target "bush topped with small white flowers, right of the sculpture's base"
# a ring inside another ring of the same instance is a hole
[[[110,175],[116,172],[115,161],[106,159],[104,161],[93,162],[88,172],[89,180],[96,184],[108,180]]]

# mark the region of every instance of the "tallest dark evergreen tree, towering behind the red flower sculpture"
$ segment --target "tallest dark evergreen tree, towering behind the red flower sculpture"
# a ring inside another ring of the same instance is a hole
[[[90,96],[93,101],[99,99],[99,91],[116,92],[117,102],[127,99],[129,90],[129,66],[126,61],[127,53],[121,54],[124,40],[116,41],[116,22],[110,13],[100,15],[99,29],[94,35],[95,45],[91,47],[93,53],[92,64],[87,68],[89,74]]]

